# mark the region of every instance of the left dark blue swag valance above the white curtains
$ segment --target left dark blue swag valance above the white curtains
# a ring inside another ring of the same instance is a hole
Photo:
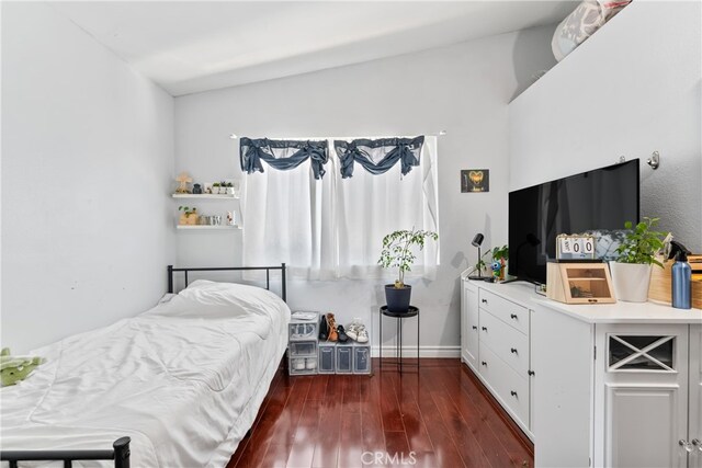
[[[261,160],[274,169],[285,171],[310,159],[315,179],[321,179],[326,172],[324,164],[329,160],[329,145],[327,140],[271,140],[242,137],[239,139],[239,158],[241,171],[248,174],[263,172]]]

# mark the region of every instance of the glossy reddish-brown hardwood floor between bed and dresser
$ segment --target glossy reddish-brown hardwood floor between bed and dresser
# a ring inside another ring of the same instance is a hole
[[[371,377],[279,370],[227,468],[533,466],[533,446],[458,359],[403,375],[373,366]]]

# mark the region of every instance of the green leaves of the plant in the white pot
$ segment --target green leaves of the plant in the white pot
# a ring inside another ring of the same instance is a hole
[[[656,260],[656,253],[663,249],[663,239],[666,232],[653,230],[658,225],[659,218],[644,217],[644,220],[633,225],[632,221],[624,222],[624,227],[630,231],[624,237],[622,243],[616,248],[620,263],[641,263],[645,265],[663,264]]]

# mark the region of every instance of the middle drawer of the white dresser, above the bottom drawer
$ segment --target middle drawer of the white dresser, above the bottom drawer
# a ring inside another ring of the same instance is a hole
[[[487,344],[519,375],[529,372],[529,336],[497,319],[490,312],[480,310],[480,341]]]

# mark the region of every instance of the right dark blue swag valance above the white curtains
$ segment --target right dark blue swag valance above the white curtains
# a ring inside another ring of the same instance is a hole
[[[333,146],[341,162],[341,178],[353,176],[353,165],[361,164],[372,174],[387,172],[397,161],[401,173],[406,175],[412,167],[419,165],[419,155],[424,137],[335,140]],[[373,161],[378,161],[373,162]]]

